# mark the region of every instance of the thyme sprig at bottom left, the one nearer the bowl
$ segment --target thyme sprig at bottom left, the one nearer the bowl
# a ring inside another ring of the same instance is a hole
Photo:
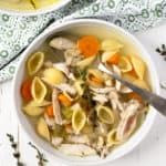
[[[44,166],[44,163],[48,162],[48,159],[45,159],[45,157],[44,157],[44,154],[41,153],[39,151],[39,148],[35,145],[33,145],[31,142],[29,143],[29,145],[37,151],[37,158],[39,159],[38,165],[39,166]]]

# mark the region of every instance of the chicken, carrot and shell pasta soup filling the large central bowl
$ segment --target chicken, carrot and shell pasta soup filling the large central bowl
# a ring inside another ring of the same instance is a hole
[[[39,136],[60,152],[106,157],[139,127],[148,106],[97,64],[151,91],[146,63],[123,53],[124,43],[115,39],[72,35],[54,37],[29,55],[22,111],[35,122]],[[60,55],[63,61],[55,61]]]

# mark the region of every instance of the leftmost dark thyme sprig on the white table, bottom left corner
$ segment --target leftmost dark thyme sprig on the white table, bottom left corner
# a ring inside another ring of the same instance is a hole
[[[20,154],[20,149],[19,149],[19,137],[18,137],[18,142],[15,142],[13,135],[7,134],[7,136],[9,137],[9,141],[11,143],[11,147],[14,151],[12,155],[17,159],[17,165],[23,166],[24,164],[20,162],[21,154]]]

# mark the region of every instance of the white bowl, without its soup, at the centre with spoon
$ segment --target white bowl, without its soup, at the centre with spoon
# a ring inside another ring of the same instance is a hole
[[[104,164],[107,162],[112,162],[116,158],[122,157],[123,155],[127,154],[131,152],[135,146],[138,145],[138,143],[147,135],[148,131],[152,127],[152,124],[154,123],[154,118],[156,115],[156,111],[151,107],[149,112],[146,116],[146,120],[139,127],[139,129],[122,146],[118,148],[114,149],[106,158],[101,159],[98,157],[85,157],[85,158],[80,158],[80,157],[71,157],[66,156],[56,149],[54,149],[49,143],[44,142],[41,139],[37,133],[34,132],[34,128],[31,126],[29,123],[28,117],[22,113],[21,111],[21,96],[20,96],[20,85],[21,82],[23,81],[23,74],[24,74],[24,66],[25,66],[25,61],[28,56],[35,51],[50,35],[55,34],[56,32],[60,31],[66,31],[66,30],[73,29],[74,33],[77,33],[80,29],[83,29],[83,34],[94,34],[96,37],[101,35],[114,35],[118,34],[118,40],[124,40],[125,44],[132,43],[132,48],[135,46],[135,52],[136,54],[139,54],[142,59],[147,63],[148,66],[148,72],[149,72],[149,80],[152,83],[152,89],[153,91],[158,94],[159,93],[159,83],[158,83],[158,77],[156,73],[156,69],[154,63],[152,62],[152,59],[149,54],[145,51],[144,46],[137,41],[135,37],[126,32],[125,30],[112,24],[107,23],[105,21],[98,21],[98,20],[74,20],[74,21],[69,21],[65,23],[62,23],[60,25],[53,25],[51,29],[42,33],[40,37],[38,37],[31,44],[30,46],[24,51],[23,58],[20,61],[20,64],[18,66],[18,70],[15,72],[14,79],[13,79],[13,104],[14,104],[14,110],[17,112],[17,115],[19,117],[20,124],[22,128],[27,132],[28,136],[31,138],[33,143],[35,143],[39,147],[43,148],[48,154],[53,155],[54,158],[60,159],[66,164],[70,165],[100,165]],[[105,32],[108,32],[104,34]]]

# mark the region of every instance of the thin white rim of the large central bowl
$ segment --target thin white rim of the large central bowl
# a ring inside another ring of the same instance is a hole
[[[73,24],[80,24],[80,23],[96,23],[96,24],[103,24],[103,25],[105,25],[105,27],[108,27],[108,28],[112,28],[112,29],[115,29],[115,30],[117,30],[117,31],[120,31],[121,33],[123,33],[123,34],[126,34],[127,35],[127,38],[128,39],[131,39],[132,41],[134,41],[134,43],[138,46],[138,48],[141,48],[141,50],[142,50],[142,52],[144,52],[145,54],[147,54],[149,58],[149,60],[151,60],[151,66],[148,66],[149,69],[153,69],[153,81],[152,82],[154,82],[154,85],[155,85],[155,90],[156,90],[156,94],[159,94],[159,80],[158,80],[158,75],[157,75],[157,72],[156,72],[156,68],[155,68],[155,63],[153,62],[153,60],[152,60],[152,58],[151,58],[151,55],[149,55],[149,53],[145,50],[145,48],[142,45],[142,43],[133,35],[133,34],[131,34],[129,32],[127,32],[126,30],[124,30],[124,29],[122,29],[122,28],[120,28],[120,27],[117,27],[117,25],[115,25],[115,24],[113,24],[113,23],[110,23],[110,22],[106,22],[106,21],[102,21],[102,20],[97,20],[97,19],[76,19],[76,20],[70,20],[70,21],[66,21],[66,22],[63,22],[63,23],[61,23],[61,24],[53,24],[51,28],[49,28],[45,32],[43,32],[42,34],[40,34],[37,39],[34,39],[34,41],[28,46],[28,49],[22,53],[22,59],[21,59],[21,61],[19,62],[19,65],[18,65],[18,69],[17,69],[17,71],[15,71],[15,74],[14,74],[14,77],[13,77],[13,84],[12,84],[12,102],[13,102],[13,105],[14,105],[14,111],[15,111],[15,113],[17,113],[17,116],[18,116],[18,120],[19,120],[19,123],[22,125],[22,128],[23,128],[23,131],[24,131],[24,133],[27,134],[27,136],[31,139],[31,141],[33,141],[42,151],[44,151],[45,152],[45,154],[49,154],[52,158],[54,157],[55,159],[58,159],[58,160],[60,160],[60,162],[62,162],[62,163],[64,163],[64,164],[69,164],[69,165],[90,165],[90,166],[92,166],[92,165],[100,165],[100,164],[106,164],[106,163],[108,163],[108,162],[113,162],[113,160],[115,160],[115,159],[118,159],[118,158],[121,158],[121,157],[123,157],[124,155],[126,155],[126,154],[128,154],[129,152],[132,152],[133,149],[134,149],[134,147],[136,147],[142,141],[143,141],[143,138],[145,138],[145,136],[147,135],[147,133],[149,132],[149,129],[151,129],[151,127],[152,127],[152,125],[154,124],[154,121],[155,121],[155,116],[156,116],[156,114],[157,114],[157,112],[154,110],[154,108],[152,108],[152,111],[151,111],[151,113],[148,113],[149,115],[151,115],[151,121],[148,120],[148,125],[146,126],[146,128],[144,127],[144,132],[143,132],[143,134],[142,135],[139,135],[139,137],[137,137],[137,139],[136,139],[136,142],[134,142],[133,144],[132,144],[132,146],[129,146],[126,151],[123,151],[123,153],[121,153],[121,155],[116,155],[114,158],[112,158],[112,159],[108,159],[108,157],[107,158],[104,158],[104,159],[102,159],[102,160],[97,160],[97,163],[92,163],[91,160],[89,160],[89,162],[85,162],[85,163],[77,163],[77,162],[71,162],[71,160],[66,160],[66,159],[63,159],[63,158],[61,158],[61,157],[58,157],[58,156],[53,156],[51,153],[49,153],[49,152],[46,152],[45,151],[45,148],[44,147],[42,147],[42,146],[40,146],[40,144],[38,143],[38,142],[35,142],[31,136],[30,136],[30,133],[28,133],[28,131],[25,129],[25,127],[23,126],[23,123],[22,123],[22,121],[21,121],[21,118],[20,118],[20,115],[19,115],[19,111],[17,110],[17,106],[15,106],[15,103],[14,103],[14,97],[15,97],[15,94],[14,94],[14,89],[15,89],[15,86],[17,86],[17,76],[19,75],[19,71],[20,71],[20,66],[21,66],[21,64],[24,62],[24,58],[27,58],[28,56],[28,52],[29,52],[29,50],[33,50],[33,45],[35,45],[35,43],[40,40],[40,39],[42,39],[42,38],[44,38],[44,37],[49,37],[49,35],[51,35],[51,32],[53,32],[54,30],[56,30],[56,29],[62,29],[62,28],[65,28],[65,27],[68,27],[68,25],[73,25]],[[151,76],[152,77],[152,76]],[[143,124],[142,124],[143,125]],[[141,128],[139,128],[141,129]],[[138,129],[138,131],[139,131]],[[138,132],[137,131],[137,132]],[[126,144],[126,143],[125,143]]]

